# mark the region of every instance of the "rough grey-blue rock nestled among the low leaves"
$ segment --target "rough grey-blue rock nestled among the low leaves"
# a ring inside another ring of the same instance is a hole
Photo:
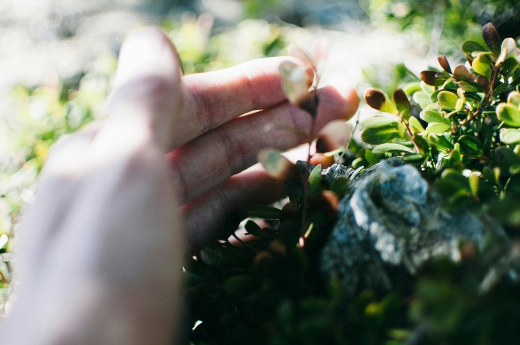
[[[413,275],[430,258],[459,260],[462,240],[482,248],[489,235],[501,236],[498,227],[491,231],[487,221],[468,211],[441,209],[440,197],[400,158],[359,176],[334,166],[324,175],[329,183],[339,176],[352,180],[321,254],[322,272],[339,278],[349,296],[361,288],[387,291],[396,283],[396,271]]]

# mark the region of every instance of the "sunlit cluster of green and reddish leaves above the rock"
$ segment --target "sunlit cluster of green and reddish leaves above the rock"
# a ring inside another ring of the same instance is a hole
[[[421,72],[392,97],[367,90],[367,104],[381,113],[361,122],[361,139],[374,145],[375,160],[365,153],[355,164],[402,156],[420,166],[451,208],[487,210],[516,197],[520,49],[490,23],[483,40],[486,47],[462,45],[465,64],[452,68],[440,56],[440,69]]]

